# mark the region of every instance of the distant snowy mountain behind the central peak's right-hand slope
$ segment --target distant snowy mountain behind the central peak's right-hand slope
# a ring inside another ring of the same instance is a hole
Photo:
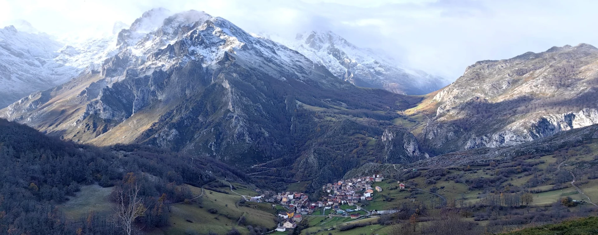
[[[408,69],[395,61],[358,48],[331,31],[298,34],[294,41],[267,36],[300,52],[332,74],[357,86],[383,88],[398,94],[421,95],[449,82],[421,70]]]

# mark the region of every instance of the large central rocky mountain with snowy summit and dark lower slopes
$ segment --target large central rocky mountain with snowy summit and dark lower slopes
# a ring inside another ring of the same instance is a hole
[[[149,144],[240,167],[296,155],[285,167],[309,170],[301,179],[425,158],[414,136],[388,121],[420,98],[358,88],[223,18],[155,9],[115,38],[101,46],[114,48],[102,64],[0,117],[80,143]],[[387,132],[392,138],[379,140]]]

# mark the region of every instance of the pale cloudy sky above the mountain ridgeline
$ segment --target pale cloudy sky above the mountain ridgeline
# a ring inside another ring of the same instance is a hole
[[[205,11],[254,33],[332,30],[450,80],[479,60],[555,45],[598,46],[593,0],[0,0],[0,26],[26,20],[51,35],[89,36],[155,7]]]

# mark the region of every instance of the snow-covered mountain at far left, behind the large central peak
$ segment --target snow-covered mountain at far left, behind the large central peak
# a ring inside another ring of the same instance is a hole
[[[118,32],[122,28],[115,24]],[[56,39],[23,20],[0,29],[0,108],[64,84],[85,69],[99,71],[103,60],[117,53],[116,42],[116,34]]]

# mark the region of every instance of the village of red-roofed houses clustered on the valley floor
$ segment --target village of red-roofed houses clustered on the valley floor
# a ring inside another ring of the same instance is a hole
[[[297,227],[307,215],[309,217],[346,217],[359,219],[370,215],[386,214],[392,211],[368,211],[362,207],[363,202],[373,200],[373,194],[382,191],[379,186],[372,187],[375,182],[382,182],[382,175],[351,178],[322,185],[323,196],[311,202],[309,196],[300,192],[273,193],[265,192],[261,196],[251,197],[252,202],[273,203],[278,217],[282,219],[276,231],[288,231]],[[401,189],[405,185],[400,183]]]

